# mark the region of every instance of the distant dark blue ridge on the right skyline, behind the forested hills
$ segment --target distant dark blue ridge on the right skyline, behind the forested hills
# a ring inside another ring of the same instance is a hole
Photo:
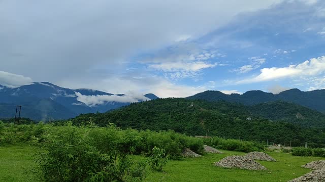
[[[219,91],[207,90],[206,92],[196,94],[188,97],[188,99],[200,99],[207,101],[228,101],[233,103],[241,103],[244,105],[255,105],[264,102],[272,101],[286,101],[293,102],[313,110],[325,113],[325,89],[312,90],[309,92],[302,92],[294,88],[289,89],[279,94],[265,93],[261,90],[251,90],[243,95],[231,94],[226,95]]]

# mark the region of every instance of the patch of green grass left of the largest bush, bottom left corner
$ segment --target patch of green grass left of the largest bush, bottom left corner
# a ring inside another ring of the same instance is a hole
[[[29,181],[26,171],[34,165],[35,149],[28,146],[0,146],[0,181]]]

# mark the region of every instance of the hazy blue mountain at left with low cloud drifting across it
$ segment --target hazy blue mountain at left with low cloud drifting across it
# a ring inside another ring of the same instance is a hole
[[[92,89],[69,89],[49,82],[35,82],[17,88],[0,85],[0,118],[15,116],[21,105],[21,117],[34,120],[58,120],[81,113],[106,112],[132,102],[157,99],[154,94],[127,96]]]

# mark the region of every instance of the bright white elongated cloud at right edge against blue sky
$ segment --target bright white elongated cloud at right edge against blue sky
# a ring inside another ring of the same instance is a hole
[[[253,83],[260,81],[275,80],[287,77],[297,77],[297,76],[312,76],[318,75],[325,71],[325,56],[319,58],[312,58],[309,61],[305,61],[298,65],[290,65],[288,67],[282,68],[263,68],[261,69],[261,74],[237,81],[240,83]]]

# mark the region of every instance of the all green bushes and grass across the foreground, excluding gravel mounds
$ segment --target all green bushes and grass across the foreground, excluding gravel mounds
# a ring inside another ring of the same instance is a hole
[[[225,149],[205,154],[203,145]],[[234,139],[194,138],[175,131],[122,130],[114,124],[78,126],[71,122],[0,122],[0,167],[4,181],[286,181],[308,169],[317,157],[272,152],[279,162],[261,162],[268,171],[224,169],[213,165],[225,156],[263,151],[265,145]],[[184,159],[185,148],[203,155]],[[295,148],[295,150],[302,150]],[[307,149],[308,151],[309,149]],[[312,150],[315,154],[317,150]],[[3,157],[4,156],[4,157]],[[9,162],[10,161],[10,162]],[[19,168],[19,170],[16,170]],[[14,172],[11,170],[15,169]],[[272,178],[272,179],[270,179]],[[274,180],[273,180],[274,178]]]

